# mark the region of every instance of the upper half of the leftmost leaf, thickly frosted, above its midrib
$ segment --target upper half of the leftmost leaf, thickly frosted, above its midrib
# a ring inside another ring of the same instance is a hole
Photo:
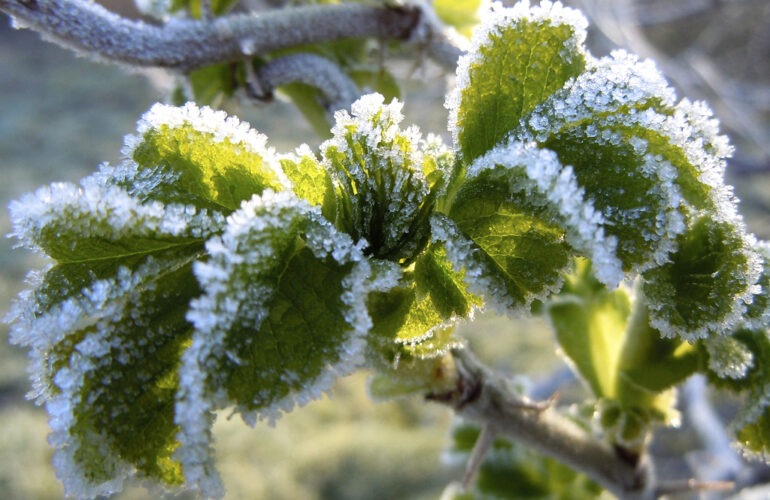
[[[12,236],[59,264],[121,259],[202,241],[224,218],[190,205],[142,203],[101,175],[54,183],[10,204]]]

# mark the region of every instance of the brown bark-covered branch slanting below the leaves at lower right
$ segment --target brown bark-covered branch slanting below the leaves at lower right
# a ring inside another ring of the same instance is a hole
[[[427,399],[585,473],[618,498],[655,497],[648,462],[618,453],[553,408],[519,395],[501,375],[483,366],[468,350],[452,352],[456,387]]]

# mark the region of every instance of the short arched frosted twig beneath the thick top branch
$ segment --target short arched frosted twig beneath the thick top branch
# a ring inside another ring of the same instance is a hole
[[[319,89],[329,111],[349,108],[360,95],[358,87],[339,66],[315,54],[291,54],[273,59],[257,71],[265,94],[288,83],[304,83]]]

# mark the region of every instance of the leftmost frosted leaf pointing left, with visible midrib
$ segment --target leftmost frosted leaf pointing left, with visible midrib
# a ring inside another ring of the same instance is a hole
[[[8,318],[14,322],[12,340],[30,346],[36,356],[45,357],[64,336],[91,321],[104,300],[93,290],[103,280],[153,259],[200,250],[224,225],[220,214],[193,206],[142,203],[110,184],[112,171],[106,167],[80,186],[52,184],[10,205],[12,235],[54,259]],[[36,388],[38,394],[47,391],[45,383]]]

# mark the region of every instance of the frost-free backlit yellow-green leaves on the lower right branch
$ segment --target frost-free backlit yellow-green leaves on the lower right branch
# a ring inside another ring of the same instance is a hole
[[[579,260],[547,313],[571,365],[597,398],[618,407],[622,425],[611,427],[619,442],[639,445],[644,436],[631,432],[639,427],[634,422],[646,429],[653,421],[676,419],[669,389],[698,369],[699,355],[689,343],[661,338],[650,327],[640,293],[633,314],[631,305],[624,288],[608,291],[591,275],[590,264]]]

